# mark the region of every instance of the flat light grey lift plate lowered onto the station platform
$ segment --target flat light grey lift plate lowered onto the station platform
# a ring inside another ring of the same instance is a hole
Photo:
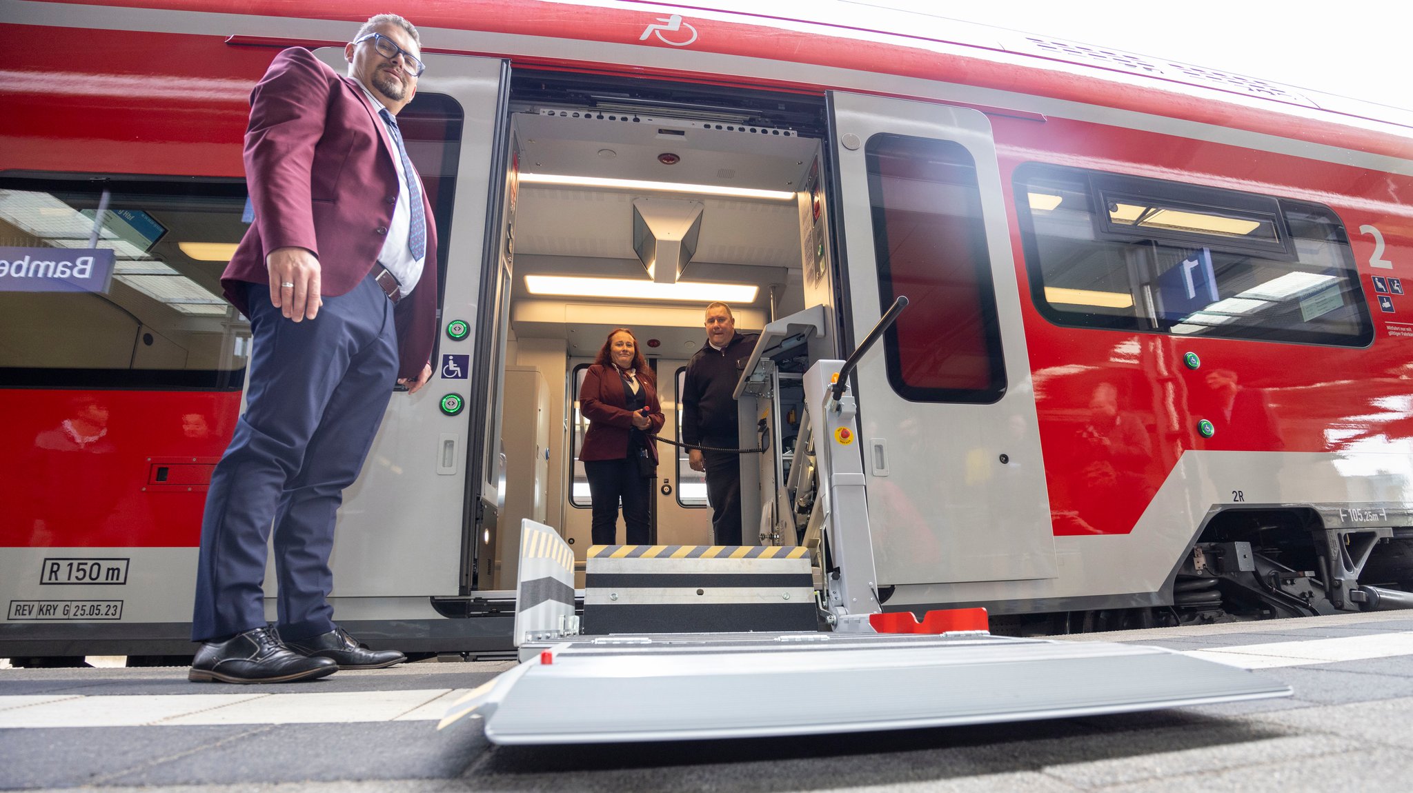
[[[657,634],[531,642],[442,725],[495,744],[755,738],[1064,718],[1290,696],[1149,646],[986,634]]]

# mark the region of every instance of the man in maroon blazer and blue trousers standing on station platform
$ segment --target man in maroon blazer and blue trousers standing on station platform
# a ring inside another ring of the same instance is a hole
[[[417,28],[369,20],[348,76],[308,49],[250,96],[254,223],[222,275],[250,319],[246,413],[216,466],[201,532],[191,680],[270,683],[404,660],[333,622],[328,559],[393,382],[431,375],[437,233],[397,113],[422,72]],[[274,528],[277,629],[261,581]]]

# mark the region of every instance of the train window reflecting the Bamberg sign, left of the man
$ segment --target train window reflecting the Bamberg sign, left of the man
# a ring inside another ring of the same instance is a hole
[[[239,179],[0,176],[0,384],[239,389],[220,271],[244,205]]]

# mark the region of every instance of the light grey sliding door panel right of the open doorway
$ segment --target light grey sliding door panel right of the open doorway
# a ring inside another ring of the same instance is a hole
[[[879,583],[1056,576],[1050,507],[996,147],[971,109],[829,95]],[[917,586],[924,588],[904,588]]]

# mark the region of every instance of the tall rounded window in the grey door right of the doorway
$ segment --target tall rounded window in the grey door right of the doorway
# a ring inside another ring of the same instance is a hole
[[[971,154],[887,134],[865,152],[879,296],[913,305],[885,337],[889,384],[916,402],[1000,399],[1006,368]]]

